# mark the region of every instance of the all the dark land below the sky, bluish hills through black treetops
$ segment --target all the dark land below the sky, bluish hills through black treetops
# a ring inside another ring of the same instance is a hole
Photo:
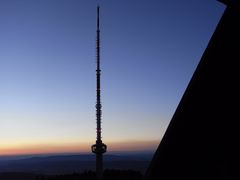
[[[103,180],[141,180],[152,154],[104,156]],[[87,170],[87,171],[86,171]],[[95,156],[0,157],[0,180],[95,180]]]

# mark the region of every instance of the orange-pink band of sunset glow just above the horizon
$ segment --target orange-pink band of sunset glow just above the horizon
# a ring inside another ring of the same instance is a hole
[[[114,151],[141,151],[155,150],[158,141],[121,141],[106,142],[108,152]],[[91,153],[90,143],[62,143],[62,144],[24,144],[0,147],[0,155],[26,155],[26,154],[55,154],[55,153]]]

